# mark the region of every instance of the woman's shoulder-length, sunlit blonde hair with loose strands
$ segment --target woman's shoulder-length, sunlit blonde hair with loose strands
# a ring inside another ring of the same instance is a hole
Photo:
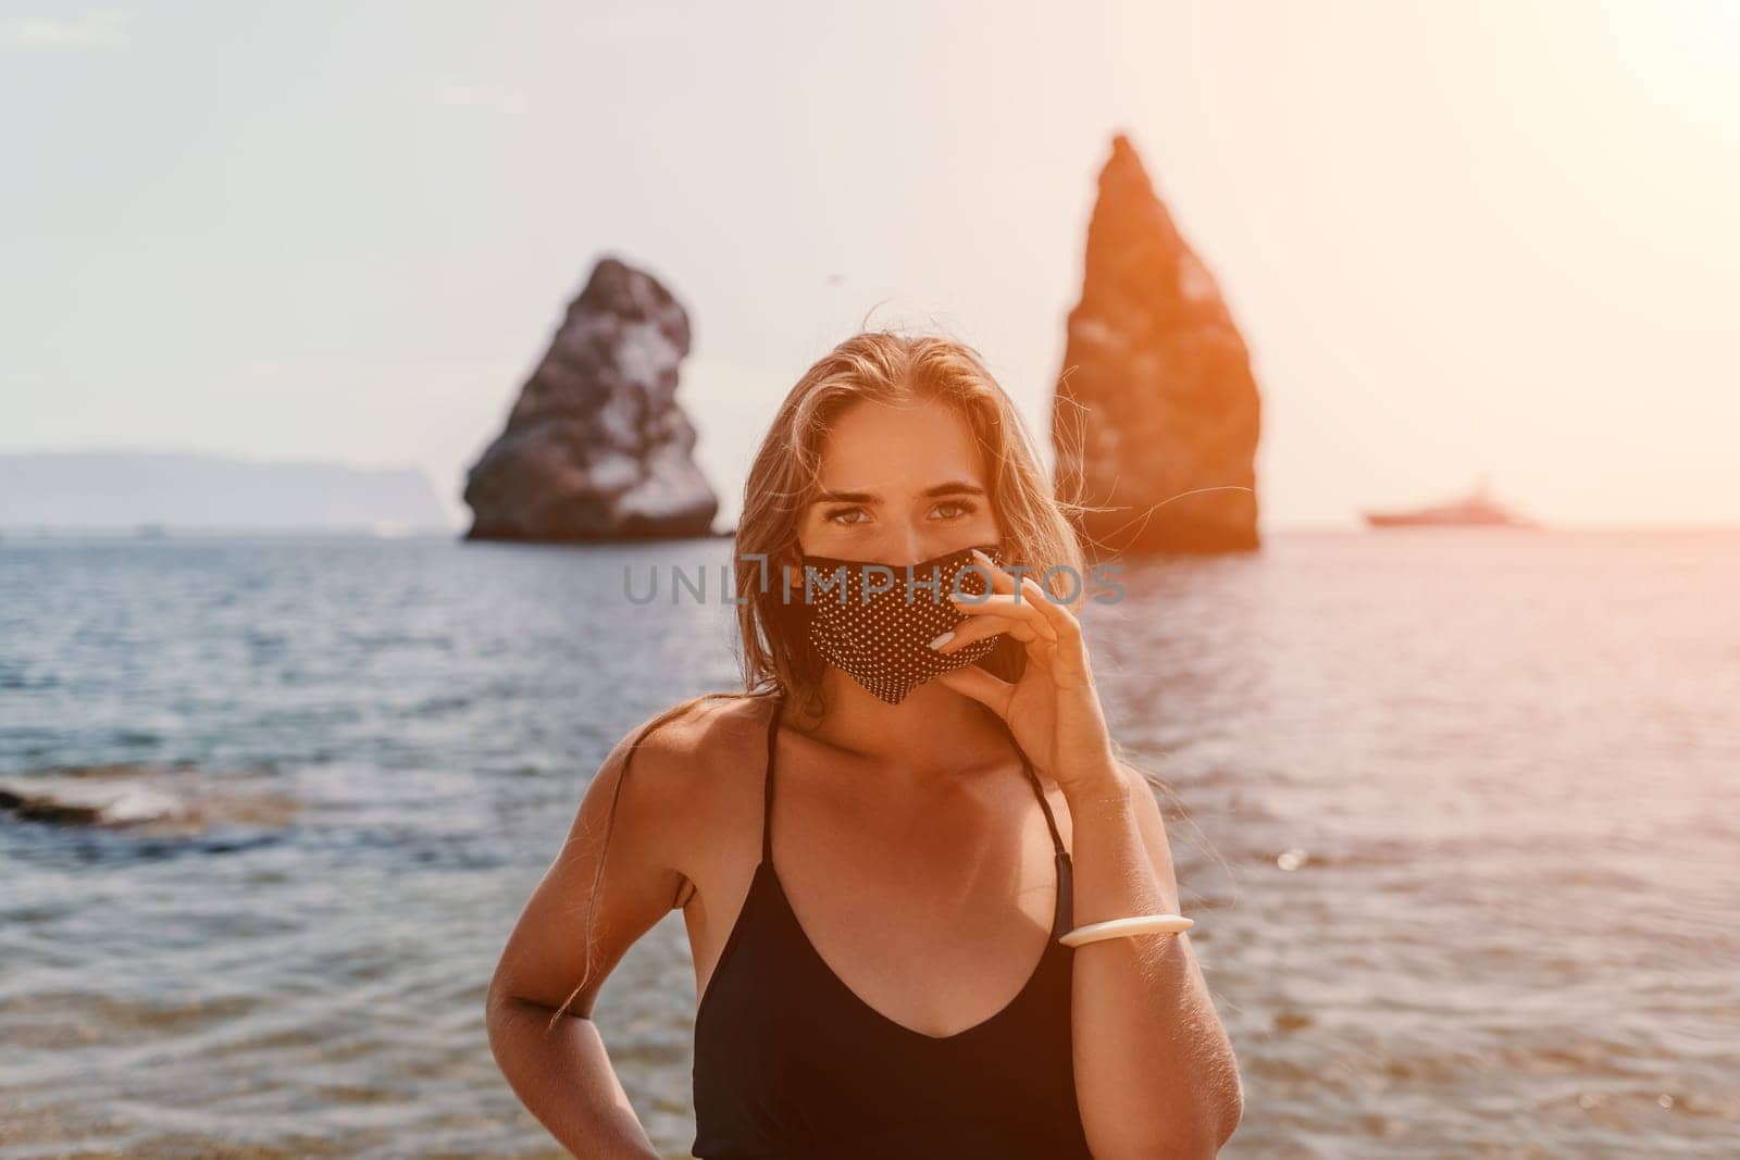
[[[623,760],[623,777],[635,748],[659,725],[684,715],[705,701],[773,699],[781,692],[786,701],[809,718],[825,711],[821,703],[821,659],[807,640],[792,631],[792,619],[781,616],[783,593],[780,577],[783,565],[799,570],[799,523],[811,497],[820,490],[821,449],[835,417],[860,402],[905,405],[914,402],[941,402],[966,419],[974,442],[983,454],[990,478],[985,480],[988,504],[995,515],[1004,546],[1004,563],[1023,563],[1035,583],[1046,586],[1051,598],[1075,610],[1086,598],[1084,553],[1067,513],[1079,510],[1074,499],[1053,494],[1041,466],[1039,450],[1021,423],[1009,395],[997,383],[976,350],[938,334],[905,336],[894,330],[861,330],[823,355],[804,377],[786,391],[773,417],[760,450],[743,483],[743,515],[734,537],[734,579],[738,603],[738,631],[741,640],[741,692],[708,692],[691,697],[659,713],[637,730]],[[1070,569],[1063,584],[1046,584],[1046,569]],[[1068,598],[1060,591],[1067,590]],[[1004,637],[997,652],[985,666],[1006,680],[1020,677],[1025,647],[1013,637]],[[1002,725],[988,708],[987,715]],[[1006,727],[1004,727],[1006,729]],[[1013,741],[1013,739],[1011,739]],[[1150,786],[1173,793],[1171,788],[1129,762],[1114,739],[1115,757],[1141,774]],[[621,795],[621,777],[611,798],[614,823],[616,797]],[[1173,795],[1176,797],[1176,795]],[[604,843],[609,849],[611,824]],[[604,856],[593,889],[602,889]],[[687,883],[686,883],[687,885]],[[593,896],[597,897],[597,894]],[[682,890],[672,899],[672,908],[686,904]],[[592,911],[597,906],[590,908]],[[586,977],[592,977],[592,939],[588,913]],[[585,988],[583,979],[574,988]],[[574,1000],[569,995],[557,1016]],[[555,1017],[552,1017],[552,1026]]]

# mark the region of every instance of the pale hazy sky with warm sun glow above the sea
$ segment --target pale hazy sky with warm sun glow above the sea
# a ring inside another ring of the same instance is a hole
[[[691,315],[722,523],[867,323],[1044,437],[1126,132],[1251,348],[1265,530],[1481,475],[1740,523],[1740,2],[0,0],[0,450],[414,464],[463,527],[604,256]]]

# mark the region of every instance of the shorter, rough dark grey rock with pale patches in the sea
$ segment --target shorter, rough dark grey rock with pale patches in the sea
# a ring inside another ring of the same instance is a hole
[[[466,539],[708,536],[719,497],[677,405],[689,315],[659,282],[606,257],[567,308],[506,430],[472,466]]]

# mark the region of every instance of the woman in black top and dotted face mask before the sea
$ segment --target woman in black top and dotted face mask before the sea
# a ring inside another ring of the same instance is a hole
[[[1058,570],[1042,591],[1020,563]],[[867,607],[870,565],[898,591]],[[1058,941],[1178,911],[1159,805],[1107,736],[1082,579],[973,350],[868,332],[809,369],[745,485],[746,692],[612,750],[491,984],[496,1059],[557,1139],[658,1155],[590,1012],[677,906],[696,1157],[1218,1151],[1241,1085],[1188,936]]]

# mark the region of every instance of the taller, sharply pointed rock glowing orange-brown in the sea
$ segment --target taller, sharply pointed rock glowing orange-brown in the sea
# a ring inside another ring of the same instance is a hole
[[[1108,508],[1077,517],[1091,557],[1258,546],[1251,358],[1124,134],[1100,172],[1063,367],[1058,496]]]

